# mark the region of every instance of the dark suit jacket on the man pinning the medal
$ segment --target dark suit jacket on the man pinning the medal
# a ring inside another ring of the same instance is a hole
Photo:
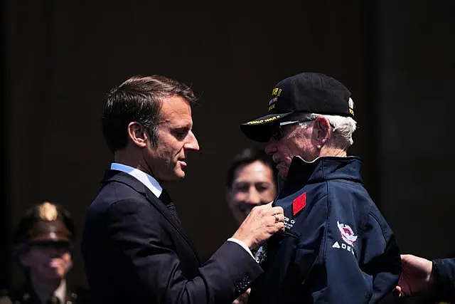
[[[96,303],[230,303],[262,273],[232,241],[201,265],[163,202],[115,170],[87,211],[82,256]]]

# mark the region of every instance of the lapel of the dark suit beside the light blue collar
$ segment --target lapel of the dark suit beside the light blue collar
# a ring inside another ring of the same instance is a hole
[[[103,179],[102,186],[104,187],[105,184],[109,182],[121,182],[122,184],[126,184],[127,186],[131,187],[139,194],[142,194],[150,204],[152,204],[160,213],[161,215],[171,224],[179,234],[181,234],[182,238],[188,243],[188,246],[193,249],[194,256],[199,260],[198,251],[196,250],[196,246],[194,246],[191,239],[186,235],[183,231],[181,224],[178,222],[175,216],[171,214],[171,211],[163,204],[162,201],[159,200],[151,191],[148,189],[144,184],[142,184],[138,179],[132,177],[131,175],[117,171],[117,170],[107,170],[105,174],[105,178]]]

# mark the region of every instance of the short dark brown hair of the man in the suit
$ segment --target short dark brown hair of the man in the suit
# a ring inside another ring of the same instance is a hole
[[[162,100],[171,96],[179,96],[190,104],[196,100],[188,85],[161,75],[133,76],[113,88],[102,115],[102,132],[109,150],[115,152],[127,145],[130,122],[143,125],[156,145]]]

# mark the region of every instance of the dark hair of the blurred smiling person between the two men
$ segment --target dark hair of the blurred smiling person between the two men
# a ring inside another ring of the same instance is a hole
[[[267,167],[272,169],[273,182],[275,184],[275,187],[277,187],[278,189],[277,183],[278,170],[275,167],[272,157],[270,157],[270,155],[267,155],[264,152],[264,150],[260,150],[257,148],[246,148],[242,150],[240,153],[236,154],[235,157],[232,159],[232,162],[228,169],[228,177],[226,179],[226,186],[228,187],[228,189],[232,188],[232,182],[234,182],[235,171],[240,167],[246,166],[247,164],[252,164],[253,162],[256,161],[262,162]]]

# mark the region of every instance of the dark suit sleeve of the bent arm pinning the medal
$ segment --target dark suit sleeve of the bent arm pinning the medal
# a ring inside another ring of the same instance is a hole
[[[262,268],[244,248],[226,241],[198,270],[183,276],[163,219],[146,204],[118,201],[108,211],[107,231],[113,251],[144,303],[230,303],[245,291]]]

